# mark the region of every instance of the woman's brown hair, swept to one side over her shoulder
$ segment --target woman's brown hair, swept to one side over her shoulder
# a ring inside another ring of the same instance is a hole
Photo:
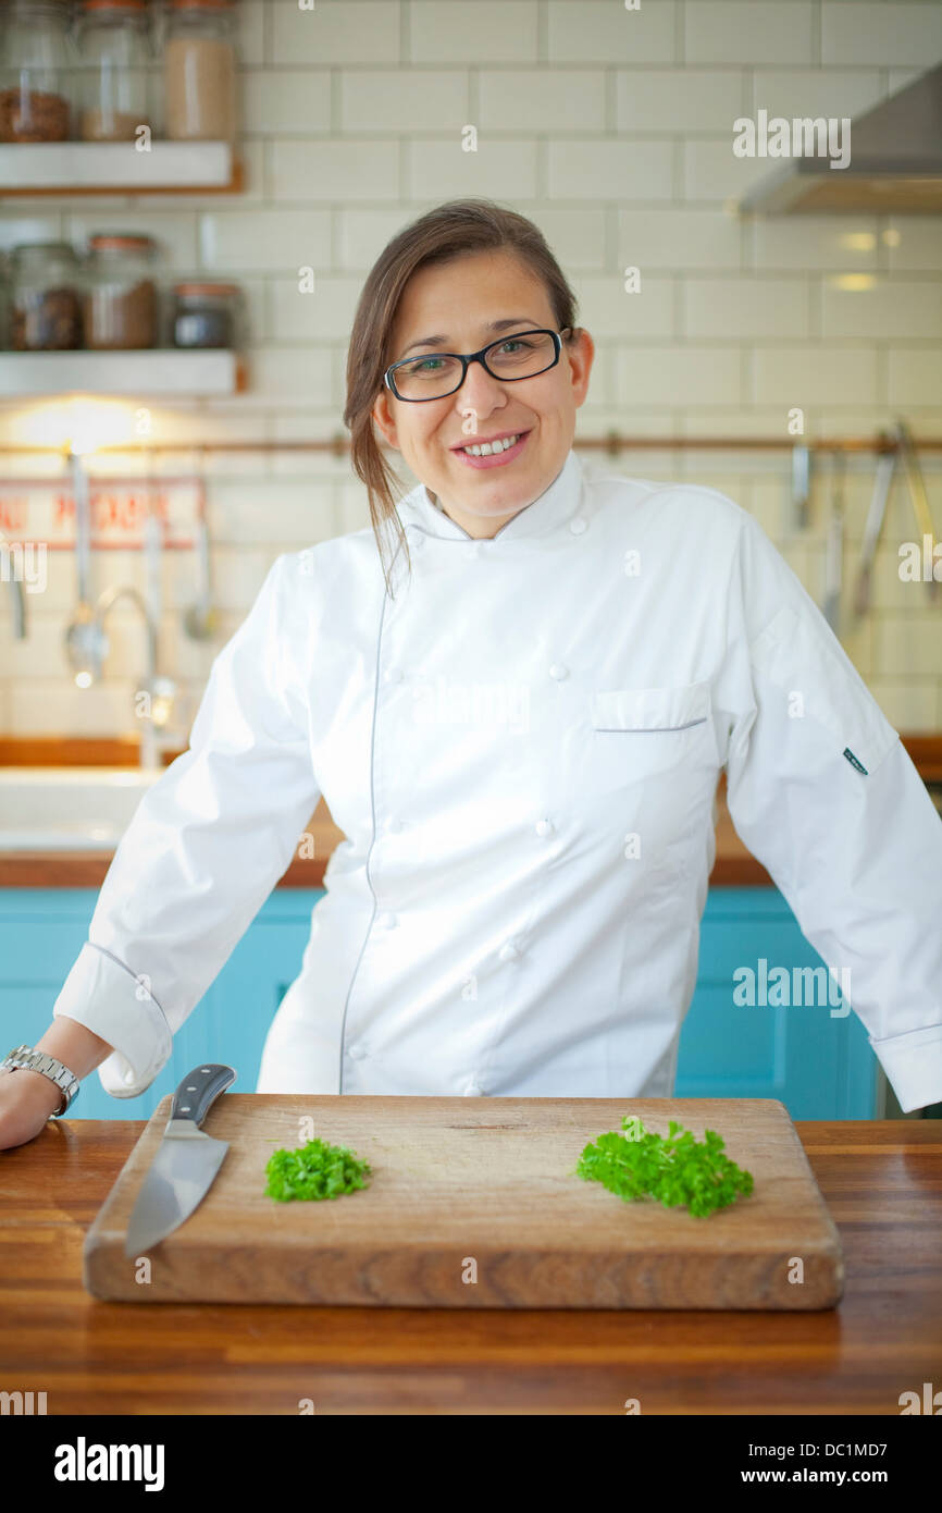
[[[493,200],[449,200],[404,227],[380,253],[360,294],[346,354],[346,407],[343,424],[351,433],[354,471],[366,484],[369,513],[383,560],[383,537],[392,528],[411,570],[405,531],[396,511],[393,487],[401,480],[380,449],[372,409],[389,368],[389,343],[399,300],[411,275],[429,263],[448,263],[467,253],[514,253],[541,278],[558,330],[572,327],[566,342],[576,339],[576,298],[543,233],[526,216],[505,210]],[[396,554],[393,552],[393,557]],[[392,595],[384,563],[386,587]]]

